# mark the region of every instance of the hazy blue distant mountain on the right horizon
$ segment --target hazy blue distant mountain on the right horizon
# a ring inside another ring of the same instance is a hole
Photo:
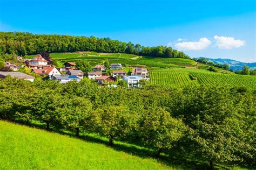
[[[199,57],[200,58],[205,58],[205,57]],[[210,58],[205,58],[208,61],[212,61],[214,63],[220,63],[220,64],[227,64],[230,65],[230,68],[234,71],[237,70],[242,70],[244,65],[248,66],[250,69],[256,69],[256,62],[240,62],[236,60],[231,60],[231,59],[210,59]]]

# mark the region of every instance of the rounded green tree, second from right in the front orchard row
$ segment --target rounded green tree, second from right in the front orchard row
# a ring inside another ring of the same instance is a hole
[[[184,135],[185,124],[171,117],[163,108],[150,108],[143,115],[142,129],[143,140],[157,148],[157,157],[163,150],[170,150]]]

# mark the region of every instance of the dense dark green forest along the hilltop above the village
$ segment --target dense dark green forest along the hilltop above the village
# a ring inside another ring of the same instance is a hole
[[[0,54],[30,55],[41,52],[95,51],[128,53],[167,58],[190,58],[184,52],[166,46],[144,47],[131,42],[83,36],[38,35],[24,32],[0,32]]]

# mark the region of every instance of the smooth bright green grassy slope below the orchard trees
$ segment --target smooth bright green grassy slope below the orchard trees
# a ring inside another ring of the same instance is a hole
[[[104,144],[0,121],[0,169],[170,169]]]

